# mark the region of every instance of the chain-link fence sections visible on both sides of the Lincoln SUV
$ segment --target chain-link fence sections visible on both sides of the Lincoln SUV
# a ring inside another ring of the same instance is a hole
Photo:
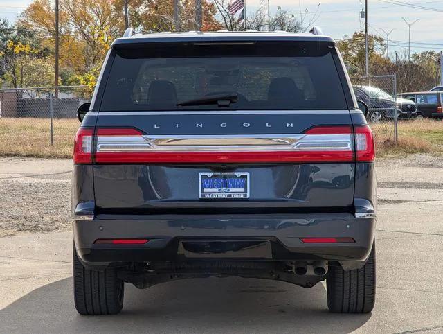
[[[368,107],[377,143],[396,143],[398,118],[395,75],[351,78],[358,100]],[[70,157],[80,125],[77,109],[91,99],[85,86],[0,89],[0,155]],[[405,106],[406,107],[406,106]]]

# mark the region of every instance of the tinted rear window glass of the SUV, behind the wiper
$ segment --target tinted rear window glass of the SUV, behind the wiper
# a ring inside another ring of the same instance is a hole
[[[347,109],[334,47],[318,42],[117,49],[100,110]],[[237,102],[177,103],[235,94]]]

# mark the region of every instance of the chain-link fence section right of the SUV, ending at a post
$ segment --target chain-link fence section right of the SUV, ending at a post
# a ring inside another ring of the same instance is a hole
[[[376,143],[397,143],[398,118],[404,113],[397,103],[395,75],[354,77],[351,81],[357,100],[369,107],[366,118]]]

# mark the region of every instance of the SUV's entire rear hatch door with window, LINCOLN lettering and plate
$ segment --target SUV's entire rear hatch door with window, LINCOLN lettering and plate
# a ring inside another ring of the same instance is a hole
[[[96,206],[118,213],[348,211],[354,134],[329,42],[118,46]]]

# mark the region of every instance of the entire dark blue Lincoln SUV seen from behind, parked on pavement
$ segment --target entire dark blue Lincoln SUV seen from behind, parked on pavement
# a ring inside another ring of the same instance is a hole
[[[326,280],[329,310],[370,312],[374,142],[334,40],[126,35],[78,110],[78,312],[208,276]]]

